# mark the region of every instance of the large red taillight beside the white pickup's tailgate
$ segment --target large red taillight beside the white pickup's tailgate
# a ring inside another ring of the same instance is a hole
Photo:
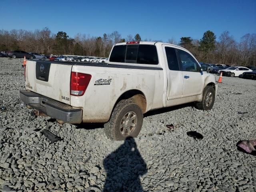
[[[82,96],[88,87],[92,76],[78,72],[71,72],[70,78],[70,94],[74,96]]]

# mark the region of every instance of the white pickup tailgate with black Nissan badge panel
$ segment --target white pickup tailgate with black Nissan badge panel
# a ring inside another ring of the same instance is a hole
[[[71,70],[72,65],[29,60],[26,64],[26,89],[70,104]]]

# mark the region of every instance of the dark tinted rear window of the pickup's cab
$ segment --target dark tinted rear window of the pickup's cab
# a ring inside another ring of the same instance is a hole
[[[114,46],[110,62],[158,64],[155,45],[131,44]]]

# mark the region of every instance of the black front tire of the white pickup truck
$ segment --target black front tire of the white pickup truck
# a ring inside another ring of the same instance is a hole
[[[208,96],[208,99],[207,99],[207,96]],[[212,100],[209,103],[210,97],[212,98]],[[199,110],[211,110],[214,105],[214,101],[215,101],[214,88],[212,86],[206,86],[203,91],[203,99],[201,102],[196,103],[196,108]]]

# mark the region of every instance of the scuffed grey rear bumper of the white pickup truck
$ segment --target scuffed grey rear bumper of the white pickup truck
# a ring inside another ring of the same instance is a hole
[[[20,91],[20,100],[52,118],[68,123],[82,122],[82,109],[73,109],[72,106],[46,96],[22,90]]]

